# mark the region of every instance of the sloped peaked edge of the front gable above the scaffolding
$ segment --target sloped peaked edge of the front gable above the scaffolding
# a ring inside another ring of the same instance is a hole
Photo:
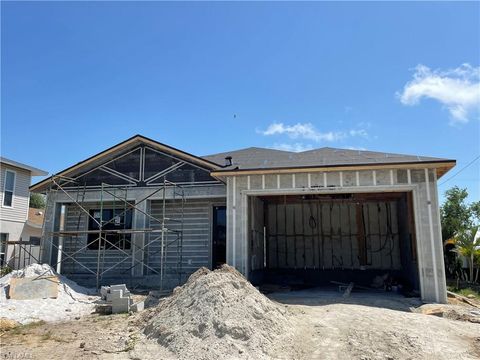
[[[216,163],[214,163],[214,162],[212,162],[208,159],[203,159],[201,157],[192,155],[192,154],[187,153],[185,151],[176,149],[172,146],[168,146],[168,145],[162,144],[158,141],[149,139],[149,138],[147,138],[145,136],[142,136],[142,135],[134,135],[131,138],[129,138],[125,141],[122,141],[121,143],[119,143],[117,145],[114,145],[114,146],[112,146],[112,147],[110,147],[110,148],[108,148],[108,149],[106,149],[106,150],[104,150],[104,151],[102,151],[102,152],[100,152],[96,155],[93,155],[93,156],[89,157],[88,159],[80,161],[80,162],[76,163],[75,165],[72,165],[72,166],[66,168],[65,170],[62,170],[62,171],[58,172],[54,176],[64,176],[64,177],[72,176],[72,174],[77,174],[82,169],[88,168],[89,166],[90,167],[94,166],[95,164],[98,164],[98,163],[101,163],[101,162],[104,162],[104,161],[108,161],[108,160],[114,158],[121,151],[134,148],[134,147],[136,147],[138,145],[141,145],[141,144],[148,145],[155,150],[159,150],[159,151],[162,151],[164,153],[168,153],[168,154],[173,155],[177,158],[180,158],[180,159],[185,160],[187,162],[199,165],[199,166],[201,166],[203,168],[206,168],[206,169],[209,169],[209,170],[216,170],[216,169],[220,168],[220,166],[218,164],[216,164]],[[51,182],[51,178],[44,179],[44,180],[30,186],[30,191],[34,191],[34,192],[35,191],[37,191],[37,192],[38,191],[44,191],[48,187],[50,182]]]

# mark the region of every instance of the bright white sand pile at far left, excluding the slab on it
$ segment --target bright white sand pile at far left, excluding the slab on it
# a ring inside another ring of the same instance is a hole
[[[57,298],[15,300],[7,294],[12,278],[58,277]],[[92,296],[94,289],[84,288],[76,282],[59,275],[48,264],[32,264],[14,270],[0,278],[0,317],[22,324],[35,321],[60,321],[90,314],[99,298]]]

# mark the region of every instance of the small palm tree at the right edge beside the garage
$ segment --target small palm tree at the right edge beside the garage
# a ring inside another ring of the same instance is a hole
[[[469,269],[469,282],[478,280],[478,270],[474,276],[475,264],[480,263],[480,226],[473,226],[470,229],[462,230],[455,235],[455,252],[467,259]]]

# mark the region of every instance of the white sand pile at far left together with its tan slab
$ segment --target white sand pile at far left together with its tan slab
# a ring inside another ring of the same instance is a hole
[[[91,295],[94,293],[94,289],[58,275],[47,264],[32,264],[0,278],[0,317],[22,324],[73,320],[94,310],[99,299]]]

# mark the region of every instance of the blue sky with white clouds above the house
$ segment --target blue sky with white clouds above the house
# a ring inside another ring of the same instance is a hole
[[[197,155],[330,146],[457,159],[445,179],[480,154],[479,3],[1,10],[1,152],[50,173],[137,133]],[[440,191],[480,199],[479,163]]]

